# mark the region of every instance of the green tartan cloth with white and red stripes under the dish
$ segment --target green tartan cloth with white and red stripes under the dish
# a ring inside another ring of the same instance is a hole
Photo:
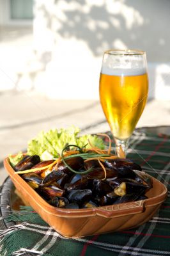
[[[170,190],[170,137],[135,132],[129,145],[127,157],[141,164],[143,170]],[[9,219],[19,221],[19,224],[0,232],[1,256],[170,255],[170,192],[150,221],[111,234],[68,239],[52,230],[33,209],[27,207],[13,213]]]

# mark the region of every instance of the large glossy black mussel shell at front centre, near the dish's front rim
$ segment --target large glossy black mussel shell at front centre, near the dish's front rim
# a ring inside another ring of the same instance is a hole
[[[84,202],[89,201],[91,196],[92,191],[90,189],[72,190],[68,194],[68,200],[71,203],[82,205]]]

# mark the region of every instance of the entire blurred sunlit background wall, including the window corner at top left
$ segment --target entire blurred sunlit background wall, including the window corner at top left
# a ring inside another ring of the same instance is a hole
[[[0,91],[98,99],[107,49],[146,51],[150,99],[170,99],[169,0],[0,0]]]

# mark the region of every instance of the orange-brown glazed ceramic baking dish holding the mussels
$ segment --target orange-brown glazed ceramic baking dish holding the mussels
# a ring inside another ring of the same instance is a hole
[[[146,200],[91,209],[61,209],[45,202],[15,173],[8,157],[4,159],[4,167],[24,200],[65,237],[91,236],[137,227],[151,219],[167,196],[166,186],[152,178],[153,188],[146,193]]]

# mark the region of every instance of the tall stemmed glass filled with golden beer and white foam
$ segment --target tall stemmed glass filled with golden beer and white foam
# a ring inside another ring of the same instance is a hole
[[[146,53],[136,50],[104,52],[100,74],[100,102],[111,127],[118,156],[143,113],[148,97]]]

